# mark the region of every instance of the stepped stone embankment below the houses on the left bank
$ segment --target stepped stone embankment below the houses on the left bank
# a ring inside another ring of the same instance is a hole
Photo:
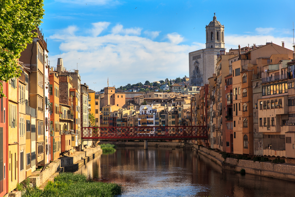
[[[54,181],[54,177],[59,175],[60,172],[67,172],[78,170],[81,165],[84,165],[91,159],[94,159],[97,155],[101,154],[102,150],[100,146],[95,148],[84,149],[83,151],[74,152],[70,156],[63,156],[59,159],[50,162],[43,172],[32,172],[32,176],[29,177],[32,186],[44,188],[48,181]]]

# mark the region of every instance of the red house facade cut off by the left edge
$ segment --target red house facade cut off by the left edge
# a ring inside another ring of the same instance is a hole
[[[6,83],[3,82],[3,93],[6,95]],[[0,196],[7,193],[8,187],[8,129],[6,121],[7,98],[0,98]]]

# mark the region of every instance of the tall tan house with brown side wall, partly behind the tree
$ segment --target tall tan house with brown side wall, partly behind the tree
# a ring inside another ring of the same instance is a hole
[[[45,118],[46,118],[46,98],[45,98],[45,91],[48,91],[45,87],[45,76],[48,70],[46,69],[46,54],[47,51],[47,43],[44,40],[44,35],[42,35],[39,27],[36,30],[37,37],[33,38],[33,42],[27,45],[27,48],[22,51],[21,57],[19,61],[23,62],[25,68],[29,69],[30,71],[30,88],[29,88],[29,105],[30,107],[36,109],[36,152],[35,155],[28,155],[32,160],[33,157],[36,158],[36,165],[37,166],[44,166],[46,164],[45,160]],[[35,120],[34,120],[35,121]],[[31,122],[31,125],[34,125]],[[35,127],[33,126],[33,130]],[[47,138],[46,138],[47,139]],[[48,140],[47,140],[48,143]],[[33,148],[33,147],[32,147]],[[32,151],[32,150],[31,150]],[[34,152],[34,151],[32,151]],[[33,159],[34,161],[35,159]]]

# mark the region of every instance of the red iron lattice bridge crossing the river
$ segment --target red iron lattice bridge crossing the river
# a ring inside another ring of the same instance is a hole
[[[207,126],[82,127],[85,140],[208,139]]]

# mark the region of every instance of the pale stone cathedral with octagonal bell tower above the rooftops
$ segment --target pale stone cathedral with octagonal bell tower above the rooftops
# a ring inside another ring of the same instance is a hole
[[[189,81],[191,86],[203,86],[215,73],[217,53],[224,49],[224,26],[213,20],[206,25],[206,48],[189,53]],[[225,49],[224,49],[225,50]]]

